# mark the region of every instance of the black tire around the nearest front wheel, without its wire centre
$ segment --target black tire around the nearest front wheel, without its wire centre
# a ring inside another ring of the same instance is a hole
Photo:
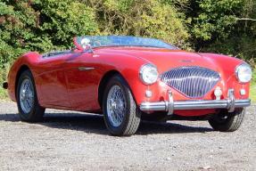
[[[113,126],[111,124],[111,120],[108,117],[107,111],[108,94],[110,93],[111,87],[115,85],[118,85],[123,91],[125,97],[124,99],[127,104],[120,126]],[[111,77],[111,80],[105,87],[103,94],[103,117],[105,125],[107,126],[109,132],[112,135],[128,136],[131,134],[135,134],[140,124],[140,110],[137,109],[136,102],[133,98],[133,95],[131,94],[127,82],[120,75],[115,75],[114,77]]]

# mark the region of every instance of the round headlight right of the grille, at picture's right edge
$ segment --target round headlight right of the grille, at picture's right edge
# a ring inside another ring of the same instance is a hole
[[[248,64],[242,63],[236,67],[235,75],[241,83],[248,83],[252,79],[252,69]]]

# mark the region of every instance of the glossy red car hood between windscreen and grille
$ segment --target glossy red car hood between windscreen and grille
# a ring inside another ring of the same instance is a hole
[[[219,66],[211,61],[211,58],[205,57],[199,53],[188,53],[181,50],[167,50],[159,48],[106,48],[101,52],[119,55],[134,56],[151,62],[156,65],[159,72],[164,72],[172,68],[181,66],[199,66],[203,68],[218,71]]]

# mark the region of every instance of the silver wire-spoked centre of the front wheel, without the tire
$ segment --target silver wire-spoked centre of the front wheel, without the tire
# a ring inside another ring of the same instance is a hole
[[[126,100],[119,85],[113,85],[107,97],[107,117],[112,126],[120,126],[126,110]]]

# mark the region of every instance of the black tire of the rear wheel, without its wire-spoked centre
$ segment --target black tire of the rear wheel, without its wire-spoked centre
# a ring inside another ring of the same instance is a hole
[[[33,85],[33,93],[34,97],[33,99],[33,104],[31,105],[31,110],[29,112],[25,112],[21,108],[21,84],[25,79],[29,79]],[[18,85],[17,85],[17,90],[16,90],[16,98],[17,98],[17,105],[18,105],[18,110],[19,110],[19,116],[22,121],[26,122],[38,122],[42,121],[44,114],[45,114],[45,108],[41,107],[37,101],[37,91],[36,91],[36,86],[34,82],[34,78],[32,76],[32,73],[30,70],[25,70],[21,73],[21,76],[19,77],[18,80]]]

